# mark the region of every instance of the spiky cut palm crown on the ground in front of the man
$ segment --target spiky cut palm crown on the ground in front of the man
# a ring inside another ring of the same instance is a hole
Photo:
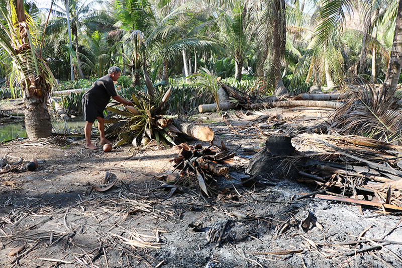
[[[118,138],[116,146],[129,142],[134,146],[146,145],[151,139],[165,147],[168,143],[175,145],[174,133],[180,131],[171,124],[175,116],[165,115],[170,88],[162,96],[162,92],[155,92],[145,72],[144,79],[148,94],[140,98],[132,94],[132,103],[135,106],[124,106],[125,111],[113,107],[106,108],[112,114],[106,118],[105,123],[114,123],[106,133],[109,137]]]

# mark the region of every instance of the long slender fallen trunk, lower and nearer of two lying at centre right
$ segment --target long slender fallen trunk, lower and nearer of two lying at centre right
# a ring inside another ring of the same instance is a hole
[[[246,107],[247,109],[250,110],[258,110],[273,107],[300,107],[300,106],[337,109],[342,105],[343,105],[342,103],[327,102],[327,101],[279,101],[279,102],[250,104],[247,105]]]

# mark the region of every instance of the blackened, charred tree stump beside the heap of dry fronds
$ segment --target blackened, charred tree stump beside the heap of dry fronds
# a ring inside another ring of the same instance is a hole
[[[268,137],[264,150],[251,157],[246,172],[273,179],[294,178],[297,170],[292,168],[287,156],[294,155],[296,150],[290,140],[290,137],[284,135]]]

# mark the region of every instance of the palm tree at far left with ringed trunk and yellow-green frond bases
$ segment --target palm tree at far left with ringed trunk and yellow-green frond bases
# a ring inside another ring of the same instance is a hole
[[[46,104],[54,78],[36,53],[38,32],[25,13],[23,0],[1,2],[0,14],[6,22],[0,24],[0,53],[12,61],[12,83],[23,93],[27,135],[33,139],[48,137],[52,126]]]

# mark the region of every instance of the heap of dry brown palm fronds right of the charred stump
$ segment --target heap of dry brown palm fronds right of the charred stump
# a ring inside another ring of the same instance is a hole
[[[361,195],[386,209],[402,207],[402,146],[362,136],[318,134],[299,135],[293,142],[299,147],[296,157],[304,158],[296,159],[304,167],[299,181],[336,188],[355,200]]]

